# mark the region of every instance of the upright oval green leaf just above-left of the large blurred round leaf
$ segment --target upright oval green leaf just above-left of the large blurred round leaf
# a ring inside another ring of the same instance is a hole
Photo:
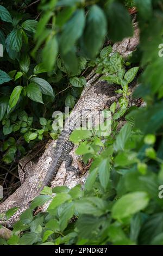
[[[109,159],[104,159],[98,166],[99,181],[104,188],[108,186],[110,177],[110,163]]]

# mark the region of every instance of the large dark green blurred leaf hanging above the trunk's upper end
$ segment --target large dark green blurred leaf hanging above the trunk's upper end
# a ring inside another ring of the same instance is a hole
[[[111,40],[117,42],[133,35],[131,17],[123,4],[108,3],[106,14],[108,16],[108,34]]]

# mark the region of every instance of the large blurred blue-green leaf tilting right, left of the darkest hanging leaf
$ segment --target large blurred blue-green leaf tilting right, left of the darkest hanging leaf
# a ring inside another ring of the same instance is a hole
[[[75,42],[80,38],[83,33],[85,25],[84,9],[78,9],[73,17],[65,23],[63,32],[60,38],[60,47],[62,54],[68,53]]]

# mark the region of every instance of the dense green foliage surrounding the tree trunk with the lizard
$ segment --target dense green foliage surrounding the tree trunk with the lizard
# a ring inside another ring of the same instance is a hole
[[[93,160],[83,190],[79,185],[71,190],[45,187],[1,244],[162,245],[163,1],[43,0],[28,13],[31,2],[0,5],[2,161],[11,163],[28,150],[27,144],[32,147],[49,134],[57,138],[52,109],[73,108],[92,66],[100,74],[107,72],[105,80],[119,84],[122,97],[110,107],[112,132],[105,141],[95,131],[71,135],[83,162]],[[128,60],[117,53],[110,57],[110,45],[101,50],[104,41],[133,34],[126,9],[133,5],[140,45]],[[146,106],[129,109],[128,86],[139,66],[134,96]],[[124,114],[127,122],[118,131]],[[33,209],[48,200],[47,212],[33,216]]]

